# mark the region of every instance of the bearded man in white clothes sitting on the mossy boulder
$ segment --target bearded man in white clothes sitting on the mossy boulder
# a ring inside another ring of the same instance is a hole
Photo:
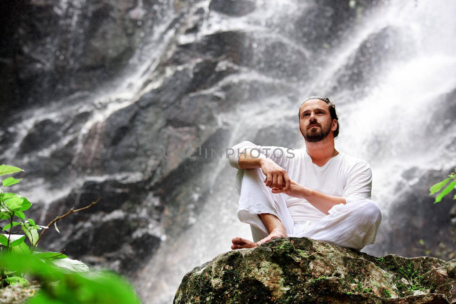
[[[233,237],[232,249],[256,247],[274,237],[311,237],[355,250],[375,241],[382,216],[370,200],[372,171],[366,161],[334,148],[339,134],[334,103],[306,98],[299,109],[299,132],[306,149],[249,141],[232,148],[228,158],[238,169],[238,218],[251,225],[254,238]]]

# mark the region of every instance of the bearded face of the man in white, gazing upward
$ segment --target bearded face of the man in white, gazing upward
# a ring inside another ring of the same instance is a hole
[[[301,106],[299,129],[310,143],[321,141],[331,133],[332,119],[328,105],[320,99],[311,99]]]

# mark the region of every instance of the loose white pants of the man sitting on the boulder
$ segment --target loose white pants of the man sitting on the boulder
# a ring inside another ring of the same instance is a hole
[[[286,194],[275,194],[264,185],[264,174],[260,168],[245,169],[242,177],[238,218],[252,229],[254,242],[269,235],[261,213],[277,216],[284,225],[288,237],[310,237],[333,245],[361,250],[373,244],[377,236],[382,214],[378,205],[371,200],[355,201],[332,206],[329,215],[318,222],[298,224],[293,221],[286,206]]]

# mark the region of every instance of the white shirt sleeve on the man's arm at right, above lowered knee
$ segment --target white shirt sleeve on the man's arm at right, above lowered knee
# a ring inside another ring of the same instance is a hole
[[[347,204],[371,198],[372,170],[366,161],[358,162],[348,174],[342,193]]]

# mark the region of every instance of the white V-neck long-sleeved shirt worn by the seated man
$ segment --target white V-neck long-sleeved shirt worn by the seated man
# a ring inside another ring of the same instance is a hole
[[[288,176],[298,184],[327,195],[342,196],[347,204],[371,198],[372,171],[365,160],[339,152],[320,167],[312,163],[306,149],[259,146],[249,141],[235,145],[232,148],[234,154],[228,155],[230,165],[238,169],[236,187],[239,194],[244,175],[244,169],[238,165],[239,153],[247,148],[259,149],[260,153],[284,168]],[[305,199],[285,194],[285,201],[295,223],[318,222],[319,219],[326,216]]]

